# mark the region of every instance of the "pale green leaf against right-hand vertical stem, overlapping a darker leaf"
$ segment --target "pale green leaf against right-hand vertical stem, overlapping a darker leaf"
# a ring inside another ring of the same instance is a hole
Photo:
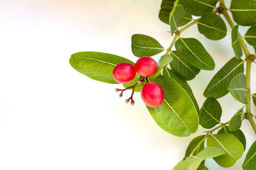
[[[237,101],[247,104],[246,76],[243,73],[237,74],[230,82],[228,91]]]

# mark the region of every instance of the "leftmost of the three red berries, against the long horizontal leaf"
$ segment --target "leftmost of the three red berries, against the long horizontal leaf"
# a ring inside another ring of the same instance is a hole
[[[118,64],[113,70],[113,78],[118,83],[129,83],[136,76],[136,71],[132,64],[123,62]]]

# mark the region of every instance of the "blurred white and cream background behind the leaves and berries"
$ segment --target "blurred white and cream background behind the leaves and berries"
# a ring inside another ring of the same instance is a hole
[[[0,169],[167,170],[183,158],[189,141],[205,129],[200,127],[187,138],[172,136],[156,125],[140,94],[135,106],[127,105],[129,94],[120,99],[114,92],[120,85],[90,80],[68,63],[72,53],[81,51],[114,53],[136,61],[131,52],[135,33],[150,35],[167,48],[172,36],[157,17],[160,3],[0,1]],[[183,34],[191,35],[218,63],[214,71],[201,71],[189,81],[202,106],[207,83],[234,54],[230,32],[221,41],[210,41],[195,26]],[[253,73],[252,92],[256,92],[255,64]],[[222,122],[242,106],[230,95],[219,101]],[[242,130],[248,150],[255,135],[246,121]],[[230,169],[241,169],[243,159]],[[212,160],[205,164],[224,169]]]

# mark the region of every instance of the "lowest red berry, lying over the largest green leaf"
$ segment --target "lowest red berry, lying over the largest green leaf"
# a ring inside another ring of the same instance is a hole
[[[157,108],[164,101],[164,91],[157,83],[146,83],[141,89],[141,99],[150,108]]]

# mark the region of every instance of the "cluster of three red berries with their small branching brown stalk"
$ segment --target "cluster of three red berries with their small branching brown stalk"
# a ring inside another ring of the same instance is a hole
[[[122,97],[125,90],[132,89],[131,97],[125,102],[129,103],[131,100],[131,104],[134,105],[134,100],[132,99],[134,89],[136,85],[146,81],[145,85],[143,85],[141,89],[141,99],[147,106],[151,108],[157,108],[164,101],[164,92],[160,85],[148,81],[148,77],[152,76],[156,70],[157,63],[150,57],[141,57],[137,60],[135,66],[127,62],[118,64],[113,70],[113,78],[116,82],[129,83],[135,78],[136,73],[140,75],[140,78],[131,87],[127,87],[126,89],[116,89],[116,92],[121,91],[120,97]]]

